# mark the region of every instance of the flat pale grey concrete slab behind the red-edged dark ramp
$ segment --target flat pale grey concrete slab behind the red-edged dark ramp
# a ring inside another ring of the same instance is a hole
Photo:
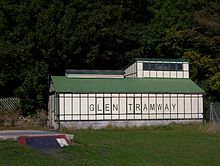
[[[63,134],[54,131],[42,130],[2,130],[0,131],[0,140],[17,140],[20,136],[56,136],[65,135],[68,141],[73,139],[71,134]]]

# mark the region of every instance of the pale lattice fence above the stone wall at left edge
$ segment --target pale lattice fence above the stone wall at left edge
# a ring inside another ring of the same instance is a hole
[[[17,97],[0,98],[0,109],[13,110],[19,102],[20,99]]]

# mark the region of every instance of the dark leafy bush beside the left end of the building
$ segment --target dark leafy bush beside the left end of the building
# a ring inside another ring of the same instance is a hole
[[[34,62],[27,68],[23,72],[25,80],[17,89],[23,115],[35,113],[36,108],[47,108],[48,65]]]

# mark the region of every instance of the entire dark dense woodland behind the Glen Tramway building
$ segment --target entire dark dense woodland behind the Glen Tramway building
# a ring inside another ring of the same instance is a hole
[[[206,101],[220,100],[220,1],[0,1],[0,97],[23,113],[47,108],[50,75],[138,57],[190,60]]]

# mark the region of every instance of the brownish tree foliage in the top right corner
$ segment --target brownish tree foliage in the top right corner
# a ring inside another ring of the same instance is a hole
[[[192,29],[189,32],[189,45],[212,58],[220,53],[220,2],[201,1],[204,7],[193,14]]]

